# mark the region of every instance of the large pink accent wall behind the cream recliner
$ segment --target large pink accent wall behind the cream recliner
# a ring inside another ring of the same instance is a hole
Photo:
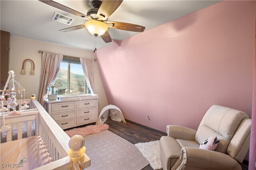
[[[98,49],[108,103],[160,131],[197,129],[213,104],[251,117],[254,6],[223,1]]]

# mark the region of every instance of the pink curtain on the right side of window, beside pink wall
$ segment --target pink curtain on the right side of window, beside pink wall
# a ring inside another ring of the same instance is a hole
[[[84,59],[80,58],[81,65],[84,71],[84,77],[87,83],[87,86],[90,88],[92,94],[95,94],[94,90],[94,60],[93,59]]]

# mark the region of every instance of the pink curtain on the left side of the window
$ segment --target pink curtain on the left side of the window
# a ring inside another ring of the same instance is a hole
[[[42,53],[42,66],[40,75],[40,85],[38,92],[38,102],[44,107],[44,98],[47,94],[47,87],[54,84],[63,55],[55,53]]]

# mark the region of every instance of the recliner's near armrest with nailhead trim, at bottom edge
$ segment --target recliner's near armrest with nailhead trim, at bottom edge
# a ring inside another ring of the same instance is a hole
[[[171,170],[175,168],[182,170],[242,170],[240,164],[228,154],[192,147],[182,147],[180,157]]]

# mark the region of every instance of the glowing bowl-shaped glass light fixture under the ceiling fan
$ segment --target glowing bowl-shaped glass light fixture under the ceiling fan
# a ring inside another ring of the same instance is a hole
[[[97,20],[87,21],[84,25],[88,31],[96,37],[104,34],[108,30],[106,23]]]

